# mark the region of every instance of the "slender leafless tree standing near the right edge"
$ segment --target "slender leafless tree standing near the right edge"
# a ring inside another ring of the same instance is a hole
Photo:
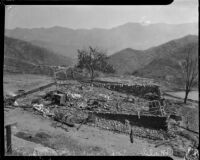
[[[187,103],[188,94],[195,84],[198,76],[198,57],[195,56],[196,48],[189,46],[186,49],[186,55],[181,63],[182,75],[185,84],[185,98],[184,103]]]

